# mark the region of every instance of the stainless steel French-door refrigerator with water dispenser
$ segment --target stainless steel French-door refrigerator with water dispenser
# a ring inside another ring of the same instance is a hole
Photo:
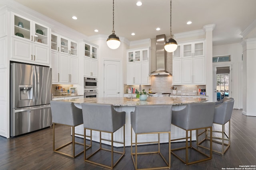
[[[52,125],[52,69],[10,64],[10,136]]]

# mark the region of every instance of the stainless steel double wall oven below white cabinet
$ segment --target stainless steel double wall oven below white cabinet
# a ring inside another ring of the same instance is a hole
[[[84,77],[84,98],[96,98],[98,96],[97,78]]]

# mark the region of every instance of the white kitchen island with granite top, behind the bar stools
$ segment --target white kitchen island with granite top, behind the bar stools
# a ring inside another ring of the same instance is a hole
[[[116,111],[125,111],[126,112],[126,124],[125,124],[125,145],[131,145],[131,122],[130,122],[130,112],[134,111],[136,105],[149,105],[149,104],[171,104],[172,110],[180,110],[183,109],[186,104],[190,103],[198,103],[198,102],[206,102],[208,101],[207,97],[188,97],[188,96],[172,96],[172,97],[150,97],[145,101],[140,101],[137,98],[76,98],[70,100],[64,100],[66,102],[74,102],[75,106],[78,108],[82,108],[81,104],[84,102],[88,103],[100,103],[100,104],[113,104]],[[122,131],[123,129],[119,129],[114,133],[114,140],[122,141]],[[76,133],[83,134],[84,133],[84,125],[80,125],[76,127]],[[89,134],[89,131],[86,131],[86,134]],[[134,134],[133,134],[134,135]],[[82,136],[79,136],[82,137]],[[107,133],[102,133],[102,137],[106,139],[110,139],[110,135]],[[156,134],[148,134],[142,135],[138,137],[138,142],[144,141],[156,141]],[[171,138],[177,139],[181,137],[186,137],[185,131],[179,129],[172,125],[171,127]],[[99,141],[99,132],[93,131],[92,140]],[[133,137],[133,139],[135,139]],[[192,133],[192,140],[195,140],[195,133]],[[168,134],[162,134],[160,136],[160,141],[162,143],[168,142]],[[108,142],[106,142],[109,144]],[[119,147],[120,145],[114,145]]]

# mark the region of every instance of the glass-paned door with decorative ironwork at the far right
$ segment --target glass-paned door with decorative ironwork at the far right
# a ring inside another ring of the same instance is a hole
[[[225,96],[232,97],[232,64],[214,66],[214,102]]]

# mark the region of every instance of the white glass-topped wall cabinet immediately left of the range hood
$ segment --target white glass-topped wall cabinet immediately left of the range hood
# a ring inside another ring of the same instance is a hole
[[[127,51],[127,85],[150,85],[149,48],[130,49]]]

